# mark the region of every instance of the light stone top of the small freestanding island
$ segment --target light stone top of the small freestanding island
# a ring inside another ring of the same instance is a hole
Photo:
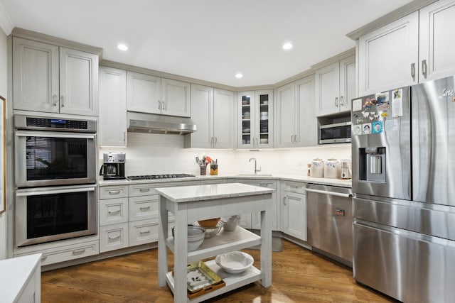
[[[191,202],[210,199],[232,198],[255,194],[269,194],[275,189],[242,183],[206,184],[178,187],[158,187],[156,192],[172,202]]]

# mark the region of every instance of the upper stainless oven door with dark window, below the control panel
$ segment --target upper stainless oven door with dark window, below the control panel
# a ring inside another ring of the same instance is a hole
[[[16,187],[96,182],[92,133],[15,132]]]

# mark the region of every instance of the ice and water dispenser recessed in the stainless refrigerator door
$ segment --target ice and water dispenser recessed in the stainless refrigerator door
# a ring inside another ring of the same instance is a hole
[[[359,180],[385,182],[385,147],[359,148]]]

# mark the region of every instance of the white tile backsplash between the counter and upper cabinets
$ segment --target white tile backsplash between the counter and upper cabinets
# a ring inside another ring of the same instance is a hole
[[[215,150],[183,148],[183,136],[149,133],[128,133],[127,148],[99,150],[100,163],[103,153],[127,153],[126,175],[151,173],[188,173],[199,175],[196,156],[209,155],[218,159],[218,173],[253,173],[256,158],[257,168],[264,174],[306,175],[306,164],[314,158],[350,159],[350,144],[321,145],[311,148],[289,148],[269,150]]]

